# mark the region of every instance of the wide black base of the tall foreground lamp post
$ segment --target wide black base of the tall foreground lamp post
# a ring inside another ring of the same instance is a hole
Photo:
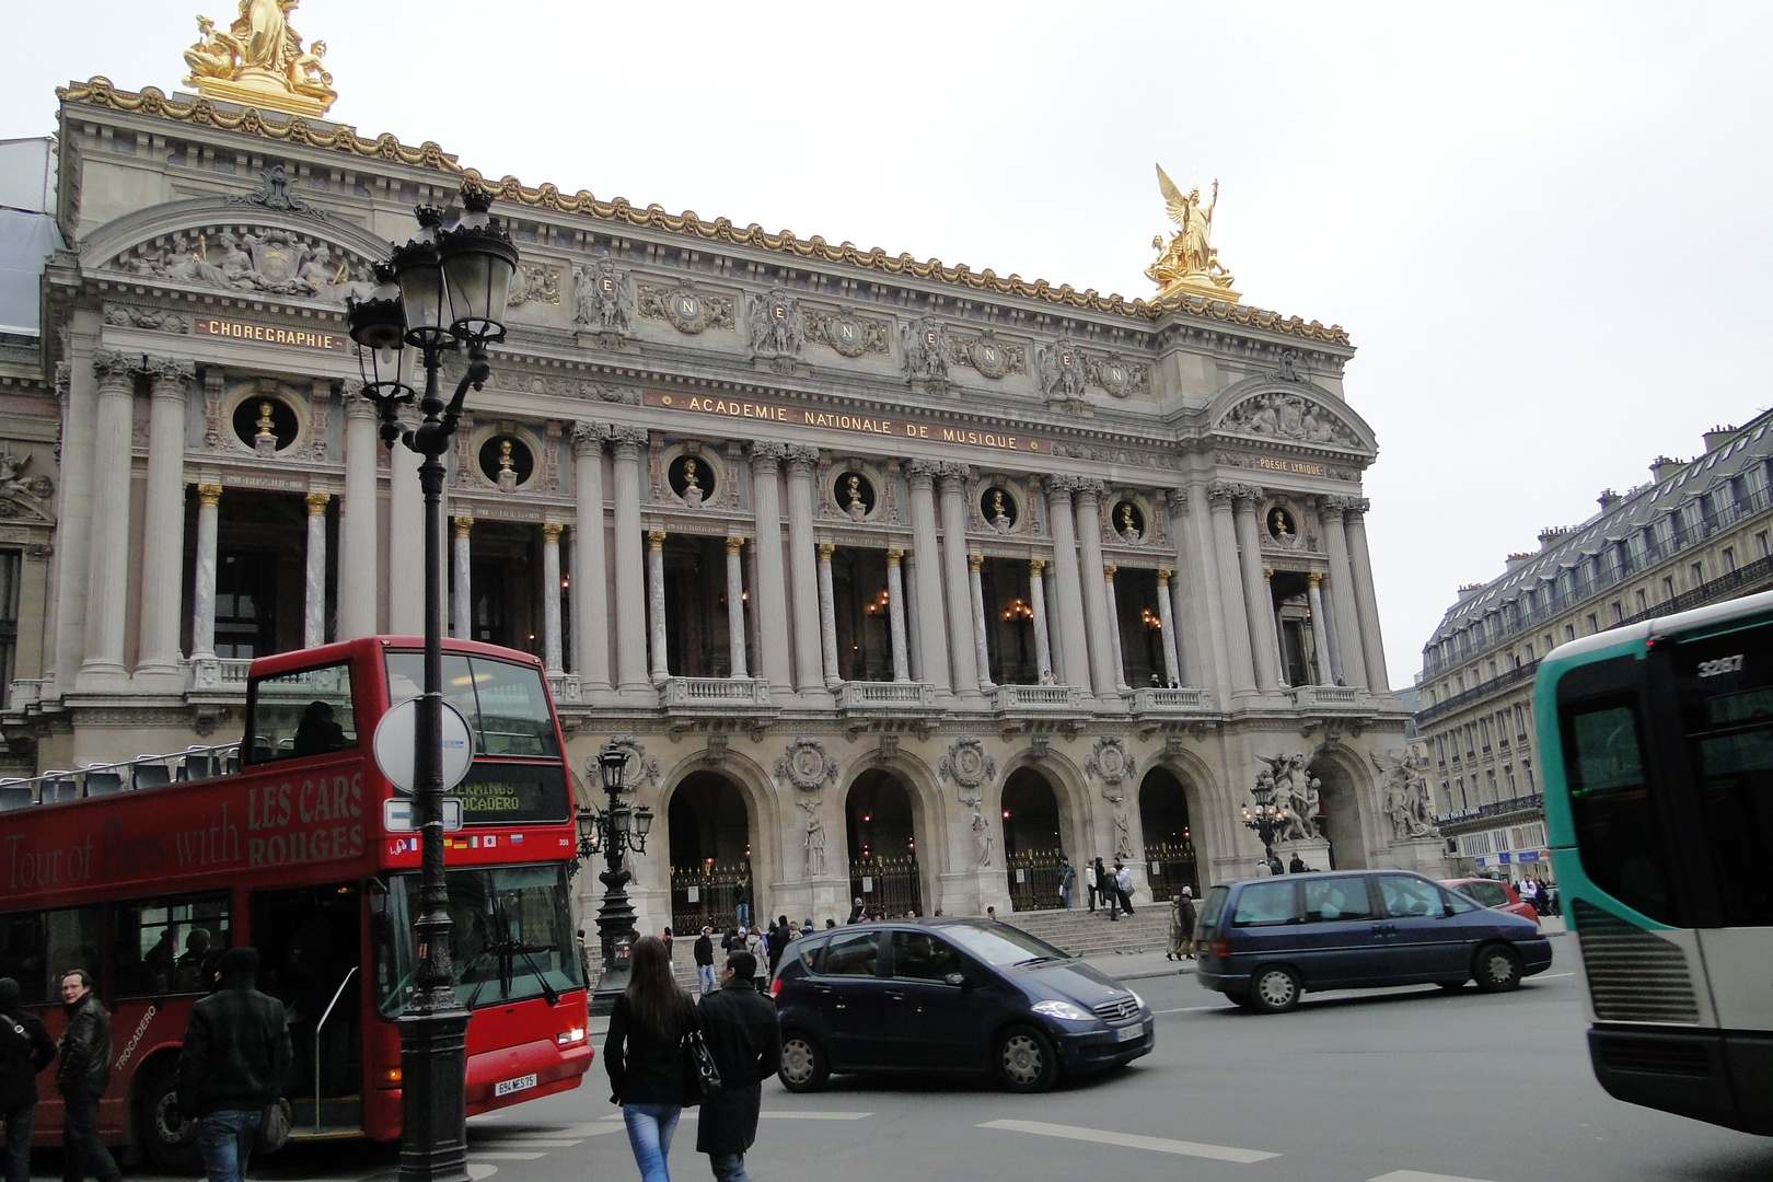
[[[468,1010],[402,1014],[401,1182],[468,1178]]]

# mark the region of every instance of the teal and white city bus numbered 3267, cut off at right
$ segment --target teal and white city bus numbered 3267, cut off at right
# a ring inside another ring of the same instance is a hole
[[[1534,709],[1596,1079],[1773,1134],[1773,592],[1566,643]]]

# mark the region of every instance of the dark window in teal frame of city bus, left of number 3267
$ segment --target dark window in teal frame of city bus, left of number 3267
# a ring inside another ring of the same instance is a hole
[[[1558,714],[1582,868],[1628,907],[1675,923],[1636,698],[1580,702]]]

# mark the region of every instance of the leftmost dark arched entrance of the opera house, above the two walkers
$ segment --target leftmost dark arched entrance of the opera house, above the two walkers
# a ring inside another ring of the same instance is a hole
[[[739,787],[713,771],[695,771],[670,796],[672,932],[723,932],[736,920],[739,875],[750,877],[752,829]],[[752,883],[754,913],[757,886]]]

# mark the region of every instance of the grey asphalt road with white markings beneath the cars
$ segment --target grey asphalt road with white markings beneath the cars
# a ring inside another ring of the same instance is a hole
[[[1571,941],[1573,943],[1573,941]],[[1571,943],[1519,992],[1308,994],[1293,1014],[1225,1005],[1191,976],[1133,985],[1158,1049],[1019,1097],[979,1081],[764,1085],[757,1182],[1175,1178],[1177,1182],[1555,1182],[1773,1178],[1773,1139],[1631,1108],[1589,1074]],[[470,1122],[475,1178],[638,1178],[601,1065],[585,1086]],[[53,1154],[37,1155],[44,1178]],[[392,1148],[289,1148],[255,1178],[392,1177]],[[679,1180],[709,1178],[684,1120]],[[145,1177],[133,1175],[131,1177]]]

